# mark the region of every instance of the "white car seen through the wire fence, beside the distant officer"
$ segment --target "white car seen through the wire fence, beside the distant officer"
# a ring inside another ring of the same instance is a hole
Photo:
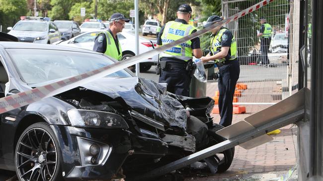
[[[269,52],[286,53],[288,48],[288,37],[285,33],[277,33],[271,40]]]

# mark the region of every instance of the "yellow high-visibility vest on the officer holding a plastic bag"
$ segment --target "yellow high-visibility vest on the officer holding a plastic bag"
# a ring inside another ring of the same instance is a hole
[[[220,49],[221,49],[221,41],[222,41],[222,35],[224,32],[229,31],[226,28],[221,29],[214,37],[213,39],[211,39],[211,51],[213,54],[217,54]],[[237,42],[235,39],[235,36],[233,36],[232,40],[231,40],[231,45],[230,45],[230,54],[231,57],[229,58],[229,60],[234,60],[237,58]],[[215,62],[223,62],[226,60],[226,57],[221,58],[221,59],[217,59],[215,60]]]

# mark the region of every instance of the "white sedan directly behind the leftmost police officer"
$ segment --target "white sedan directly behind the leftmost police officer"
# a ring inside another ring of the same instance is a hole
[[[77,37],[74,37],[68,41],[60,41],[56,43],[56,45],[64,45],[64,46],[72,46],[79,47],[84,49],[92,50],[94,46],[94,40],[98,33],[101,31],[92,31],[83,33]],[[122,48],[122,60],[135,56],[135,36],[131,33],[121,32],[117,34],[118,40],[120,42]],[[145,53],[151,49],[154,49],[156,43],[153,43],[150,40],[139,37],[139,54]],[[140,71],[146,72],[148,71],[152,65],[157,64],[158,55],[153,56],[152,58],[148,58],[142,63],[140,63]],[[135,71],[135,66],[129,67],[133,72]]]

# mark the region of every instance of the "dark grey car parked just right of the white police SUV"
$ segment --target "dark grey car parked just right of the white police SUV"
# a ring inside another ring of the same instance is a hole
[[[81,34],[79,24],[75,21],[55,20],[54,23],[61,32],[62,40],[69,40]]]

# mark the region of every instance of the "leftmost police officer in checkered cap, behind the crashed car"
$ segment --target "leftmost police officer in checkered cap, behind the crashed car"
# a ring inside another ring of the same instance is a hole
[[[129,21],[130,19],[126,18],[123,14],[113,13],[110,18],[110,27],[96,36],[93,50],[109,55],[116,60],[121,60],[122,50],[117,33],[122,32],[125,22]]]

